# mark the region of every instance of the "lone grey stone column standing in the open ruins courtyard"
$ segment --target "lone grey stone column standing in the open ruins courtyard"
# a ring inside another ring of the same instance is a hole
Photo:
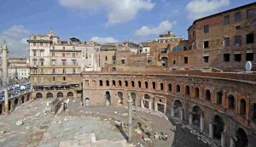
[[[133,130],[133,124],[132,124],[132,99],[128,98],[128,142],[132,141],[132,130]]]

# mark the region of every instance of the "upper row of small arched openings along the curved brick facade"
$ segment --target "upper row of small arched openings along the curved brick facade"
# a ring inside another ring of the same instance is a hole
[[[103,81],[100,80],[100,86],[103,86]],[[111,80],[106,80],[106,86],[110,86],[110,82]],[[113,86],[118,86],[118,87],[123,87],[121,80],[118,80],[117,85],[116,85],[116,81],[112,80],[112,84]],[[127,81],[125,80],[125,87],[129,87],[129,83],[131,83],[131,87],[132,88],[142,88],[142,82],[141,81]],[[157,82],[151,82],[151,84],[148,84],[149,82],[145,81],[143,84],[143,88],[151,88],[151,89],[157,89]],[[183,87],[181,87],[179,84],[176,84],[175,88],[172,87],[172,83],[168,83],[166,85],[166,93],[181,93],[183,91]],[[165,90],[165,82],[160,82],[160,87],[158,88],[161,91]],[[173,90],[176,90],[175,92],[173,92]],[[202,93],[202,91],[204,91]],[[241,116],[246,116],[247,114],[247,100],[246,99],[236,99],[236,97],[233,94],[229,94],[229,95],[225,95],[222,91],[217,91],[217,93],[213,93],[211,89],[206,88],[206,89],[201,89],[198,87],[192,87],[189,85],[185,85],[184,87],[184,95],[187,98],[195,98],[195,99],[204,99],[206,101],[209,102],[213,102],[213,104],[216,105],[221,105],[226,109],[229,110],[234,110],[234,112],[236,112],[236,110],[238,111],[239,115]],[[212,98],[212,97],[215,98]],[[239,102],[237,103],[236,100],[239,100]],[[227,101],[227,102],[226,102]],[[211,104],[211,103],[209,103]],[[227,105],[226,105],[227,104]],[[238,105],[237,105],[238,104]],[[211,104],[212,105],[212,104]],[[256,120],[256,110],[255,110],[255,120]]]

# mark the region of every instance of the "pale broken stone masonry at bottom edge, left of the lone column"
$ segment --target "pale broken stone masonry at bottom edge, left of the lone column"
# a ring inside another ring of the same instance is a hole
[[[126,140],[113,141],[102,139],[96,141],[95,133],[84,134],[60,143],[59,147],[129,147]]]

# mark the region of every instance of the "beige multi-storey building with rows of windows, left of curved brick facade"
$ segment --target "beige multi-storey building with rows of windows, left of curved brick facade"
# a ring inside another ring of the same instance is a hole
[[[32,35],[27,42],[30,80],[36,90],[73,89],[75,95],[80,89],[81,71],[96,70],[95,42],[81,42],[75,37],[61,41],[53,31]]]

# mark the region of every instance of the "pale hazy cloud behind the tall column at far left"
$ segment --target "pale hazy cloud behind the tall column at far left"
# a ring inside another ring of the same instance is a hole
[[[0,32],[0,44],[4,39],[6,40],[11,57],[27,57],[28,43],[26,39],[30,34],[31,31],[26,30],[22,25],[14,25]]]

